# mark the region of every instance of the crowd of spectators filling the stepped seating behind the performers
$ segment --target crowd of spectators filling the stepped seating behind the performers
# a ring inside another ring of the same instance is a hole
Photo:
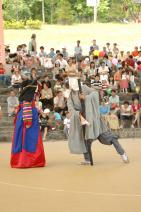
[[[6,63],[11,65],[7,76],[0,64],[0,83],[11,87],[7,99],[8,114],[13,116],[18,105],[21,83],[30,75],[38,78],[38,93],[35,96],[44,140],[48,130],[64,129],[68,135],[70,114],[67,111],[69,97],[68,73],[75,72],[84,84],[100,94],[100,113],[111,129],[140,127],[141,104],[141,47],[124,52],[118,44],[106,43],[100,49],[93,40],[88,55],[83,55],[81,41],[76,42],[74,54],[66,47],[61,50],[44,46],[37,52],[36,35],[31,36],[29,46],[21,44],[15,53],[6,47]],[[40,77],[40,78],[39,78]],[[120,100],[120,94],[123,98]],[[132,100],[127,101],[126,97]]]

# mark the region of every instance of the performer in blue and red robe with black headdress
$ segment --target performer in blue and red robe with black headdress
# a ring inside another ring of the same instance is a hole
[[[26,80],[22,83],[22,88],[15,118],[10,164],[12,168],[43,167],[45,155],[38,111],[34,103],[37,81]]]

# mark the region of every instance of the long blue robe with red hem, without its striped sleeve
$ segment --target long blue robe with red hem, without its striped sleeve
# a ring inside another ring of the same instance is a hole
[[[15,118],[10,164],[12,168],[34,168],[45,166],[45,154],[38,121],[38,111],[32,107],[32,125],[26,128],[23,122],[23,108]]]

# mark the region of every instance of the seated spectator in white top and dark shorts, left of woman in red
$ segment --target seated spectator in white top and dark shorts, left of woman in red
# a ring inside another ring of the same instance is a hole
[[[132,107],[128,101],[125,101],[123,105],[121,105],[120,107],[120,119],[121,119],[120,128],[129,126],[130,122],[132,121],[132,118],[133,118]]]

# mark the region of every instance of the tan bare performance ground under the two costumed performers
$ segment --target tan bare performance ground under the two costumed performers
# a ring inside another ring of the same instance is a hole
[[[0,143],[0,212],[140,212],[141,139],[120,141],[130,164],[96,142],[95,165],[80,166],[67,142],[45,143],[47,166],[11,169],[9,143]]]

